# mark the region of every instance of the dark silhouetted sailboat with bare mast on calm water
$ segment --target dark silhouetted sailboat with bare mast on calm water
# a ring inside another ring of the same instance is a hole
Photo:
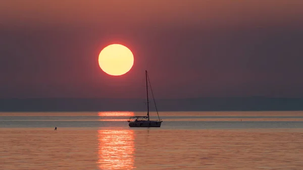
[[[131,128],[148,128],[148,127],[161,127],[161,123],[163,122],[158,114],[158,109],[157,109],[157,105],[156,105],[156,101],[154,98],[154,94],[153,94],[153,90],[151,89],[151,85],[150,85],[150,81],[148,78],[148,74],[147,71],[145,70],[145,79],[146,79],[146,98],[147,98],[147,115],[146,116],[134,116],[134,117],[130,117],[129,120],[127,122],[129,122],[129,127]],[[158,120],[149,120],[149,101],[148,101],[148,83],[149,82],[149,87],[151,90],[151,94],[153,95],[153,99],[154,99],[154,103],[155,103],[155,107],[156,107],[156,111],[157,111],[157,115],[158,115]]]

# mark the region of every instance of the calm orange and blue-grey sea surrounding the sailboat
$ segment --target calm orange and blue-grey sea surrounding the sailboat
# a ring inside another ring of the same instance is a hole
[[[303,169],[303,111],[160,111],[160,128],[128,126],[144,115],[0,112],[0,169]]]

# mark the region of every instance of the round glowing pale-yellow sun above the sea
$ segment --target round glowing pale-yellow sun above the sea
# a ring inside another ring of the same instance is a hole
[[[100,52],[99,66],[107,74],[121,76],[130,71],[134,64],[134,55],[121,44],[111,44]]]

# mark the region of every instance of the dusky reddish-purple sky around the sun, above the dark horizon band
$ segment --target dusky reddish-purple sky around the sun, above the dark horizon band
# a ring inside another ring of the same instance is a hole
[[[1,1],[0,98],[303,97],[303,1]],[[134,66],[98,65],[121,43]]]

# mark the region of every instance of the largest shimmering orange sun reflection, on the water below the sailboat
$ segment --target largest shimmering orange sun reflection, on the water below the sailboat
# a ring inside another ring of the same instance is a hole
[[[134,150],[132,130],[98,130],[100,169],[133,169]]]

